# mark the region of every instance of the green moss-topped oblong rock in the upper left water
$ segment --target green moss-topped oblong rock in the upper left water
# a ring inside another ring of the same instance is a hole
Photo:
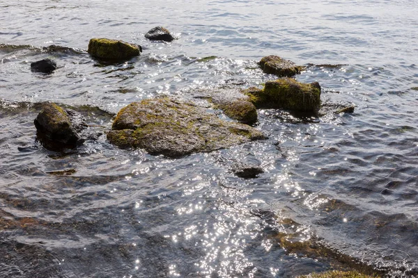
[[[141,48],[121,40],[93,38],[88,42],[88,53],[104,60],[123,60],[139,56]]]

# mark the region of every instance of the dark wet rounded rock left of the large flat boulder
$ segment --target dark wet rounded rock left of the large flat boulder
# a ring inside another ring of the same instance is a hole
[[[38,140],[46,149],[75,149],[84,142],[78,133],[85,127],[82,116],[75,111],[64,110],[54,103],[43,106],[34,124],[38,131]]]

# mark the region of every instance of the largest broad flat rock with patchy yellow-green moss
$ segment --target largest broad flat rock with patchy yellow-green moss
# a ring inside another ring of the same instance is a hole
[[[265,138],[251,126],[220,120],[199,106],[168,97],[129,104],[116,115],[112,129],[107,133],[112,144],[168,157],[211,152]]]

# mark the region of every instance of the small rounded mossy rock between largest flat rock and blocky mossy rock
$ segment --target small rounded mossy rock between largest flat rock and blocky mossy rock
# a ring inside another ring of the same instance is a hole
[[[217,106],[225,115],[243,124],[255,124],[257,122],[257,108],[247,99],[235,99]]]

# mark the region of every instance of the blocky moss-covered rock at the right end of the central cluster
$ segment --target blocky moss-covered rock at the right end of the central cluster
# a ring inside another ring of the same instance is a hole
[[[320,85],[300,83],[287,77],[267,81],[264,89],[244,91],[256,108],[284,108],[294,111],[316,112],[320,106]]]

